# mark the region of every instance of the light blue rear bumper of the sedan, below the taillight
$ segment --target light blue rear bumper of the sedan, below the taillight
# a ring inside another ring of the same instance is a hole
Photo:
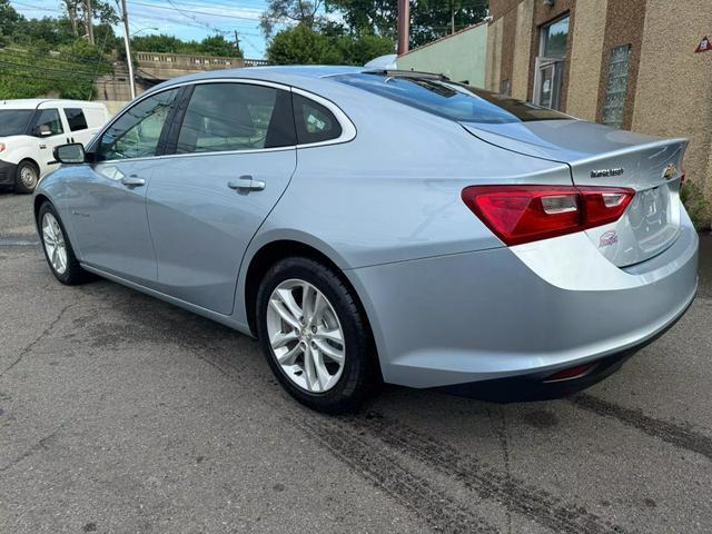
[[[532,379],[634,352],[678,320],[695,296],[699,239],[684,219],[668,250],[630,269],[612,267],[595,248],[590,255],[585,236],[565,236],[526,250],[349,271],[385,382],[429,388]],[[562,247],[563,239],[573,240]],[[566,249],[568,264],[548,247]]]

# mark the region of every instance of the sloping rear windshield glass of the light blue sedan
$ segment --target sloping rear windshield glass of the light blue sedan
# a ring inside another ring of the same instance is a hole
[[[570,118],[505,95],[435,77],[362,72],[334,79],[459,122],[496,125]]]

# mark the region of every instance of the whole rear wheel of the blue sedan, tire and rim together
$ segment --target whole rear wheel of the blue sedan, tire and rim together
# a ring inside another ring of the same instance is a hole
[[[305,303],[305,291],[313,304]],[[294,314],[284,304],[289,300],[284,296],[287,293],[297,305]],[[300,329],[294,325],[299,313]],[[318,261],[291,257],[267,271],[257,294],[257,330],[279,383],[309,408],[327,414],[352,412],[379,383],[375,345],[355,296],[332,268]],[[286,338],[290,342],[279,346]],[[290,360],[293,353],[297,356]],[[305,359],[307,353],[310,364]],[[332,359],[339,354],[340,364],[338,357]]]

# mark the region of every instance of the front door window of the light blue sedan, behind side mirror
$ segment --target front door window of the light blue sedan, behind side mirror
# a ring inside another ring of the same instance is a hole
[[[148,158],[158,154],[158,142],[178,95],[159,92],[127,110],[101,136],[98,159]]]

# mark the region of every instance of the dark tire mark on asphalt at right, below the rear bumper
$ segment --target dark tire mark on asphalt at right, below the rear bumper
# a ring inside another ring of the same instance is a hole
[[[712,459],[712,438],[696,431],[651,417],[639,408],[625,408],[585,393],[572,397],[570,402],[582,409],[611,417],[649,436]]]

